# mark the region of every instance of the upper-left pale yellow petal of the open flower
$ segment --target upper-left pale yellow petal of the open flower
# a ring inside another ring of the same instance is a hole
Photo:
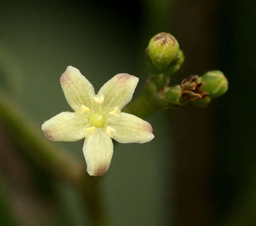
[[[79,72],[77,68],[67,67],[61,75],[61,87],[67,103],[76,112],[81,110],[81,105],[91,107],[95,92],[93,85]]]

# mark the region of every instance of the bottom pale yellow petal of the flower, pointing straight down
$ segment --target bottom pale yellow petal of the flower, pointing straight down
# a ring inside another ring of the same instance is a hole
[[[113,154],[112,139],[103,131],[96,128],[93,134],[86,137],[83,146],[87,171],[91,176],[103,175],[108,170]]]

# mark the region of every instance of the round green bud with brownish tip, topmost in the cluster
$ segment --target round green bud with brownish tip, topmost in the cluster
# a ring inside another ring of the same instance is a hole
[[[165,70],[178,60],[178,41],[169,33],[158,33],[149,41],[146,54],[156,70]]]

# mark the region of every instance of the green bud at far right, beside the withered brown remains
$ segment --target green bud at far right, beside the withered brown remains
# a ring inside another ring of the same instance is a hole
[[[209,92],[209,97],[214,99],[223,95],[228,90],[228,80],[224,74],[218,70],[212,70],[204,73],[201,78],[201,82],[204,82],[204,90]]]

